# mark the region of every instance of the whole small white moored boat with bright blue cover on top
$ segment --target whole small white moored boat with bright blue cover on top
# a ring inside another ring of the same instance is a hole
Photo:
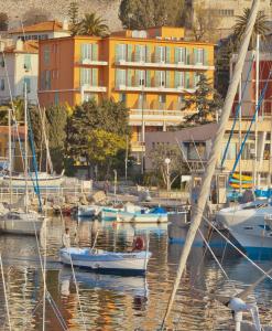
[[[162,207],[141,210],[140,212],[121,211],[117,213],[117,222],[121,223],[167,223],[167,212]]]

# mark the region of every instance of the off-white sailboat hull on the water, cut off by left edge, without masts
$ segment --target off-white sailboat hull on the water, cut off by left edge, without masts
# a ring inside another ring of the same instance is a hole
[[[0,218],[0,233],[40,235],[44,216],[36,213],[10,212]]]

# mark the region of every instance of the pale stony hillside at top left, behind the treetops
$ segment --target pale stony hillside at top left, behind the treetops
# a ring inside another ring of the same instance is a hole
[[[72,0],[70,0],[72,1]],[[4,7],[0,11],[8,13],[10,18],[10,28],[18,24],[18,17],[23,18],[24,13],[33,8],[43,9],[51,13],[51,19],[63,20],[67,18],[68,6],[70,1],[65,0],[6,0]],[[120,0],[77,0],[79,14],[86,12],[97,12],[102,17],[110,30],[118,30],[121,23],[118,19]]]

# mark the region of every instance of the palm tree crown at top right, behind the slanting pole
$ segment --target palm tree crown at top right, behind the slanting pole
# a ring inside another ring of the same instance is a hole
[[[246,26],[250,18],[250,8],[244,8],[243,14],[237,17],[236,24],[233,26],[233,34],[238,42],[241,41],[241,38],[246,31]],[[262,40],[264,40],[269,30],[268,17],[263,12],[259,11],[251,36],[250,47],[253,47],[258,34]]]

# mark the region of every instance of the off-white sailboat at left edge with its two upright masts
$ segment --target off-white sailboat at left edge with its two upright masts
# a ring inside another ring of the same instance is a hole
[[[10,203],[8,206],[2,206],[0,211],[0,232],[23,234],[23,235],[39,235],[43,226],[45,216],[29,209],[29,182],[28,182],[28,102],[26,102],[26,86],[24,95],[24,117],[25,117],[25,137],[24,137],[24,195],[17,203],[12,203],[12,177],[10,175]],[[12,156],[11,156],[11,110],[9,110],[9,159],[10,159],[10,174],[12,172]]]

